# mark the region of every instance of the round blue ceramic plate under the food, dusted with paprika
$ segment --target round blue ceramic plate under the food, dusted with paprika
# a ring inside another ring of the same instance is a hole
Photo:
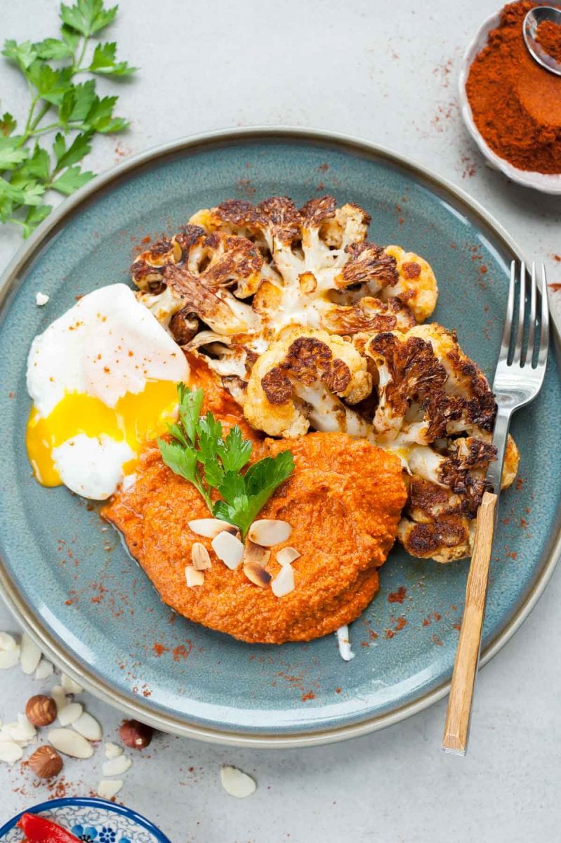
[[[372,215],[371,238],[424,255],[441,296],[435,319],[491,375],[516,246],[468,196],[369,144],[318,132],[249,130],[177,142],[114,169],[53,213],[3,281],[0,325],[0,576],[19,620],[57,663],[123,711],[168,731],[247,745],[321,743],[380,728],[446,693],[468,565],[393,550],[382,588],[334,636],[249,646],[175,617],[95,508],[33,480],[24,448],[25,359],[33,336],[101,284],[128,280],[146,234],[168,234],[227,197],[330,192]],[[35,293],[50,302],[35,306]],[[542,592],[558,556],[561,389],[515,419],[520,480],[501,499],[484,658]],[[539,435],[537,435],[539,431]],[[9,478],[9,482],[6,481]],[[401,602],[399,602],[401,601]]]

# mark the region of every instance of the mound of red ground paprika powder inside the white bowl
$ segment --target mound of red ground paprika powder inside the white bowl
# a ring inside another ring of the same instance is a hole
[[[529,0],[509,3],[469,69],[466,92],[488,146],[518,169],[561,173],[561,77],[526,50]]]

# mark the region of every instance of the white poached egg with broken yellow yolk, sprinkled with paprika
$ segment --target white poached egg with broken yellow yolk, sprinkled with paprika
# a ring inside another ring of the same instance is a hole
[[[110,497],[174,420],[176,384],[188,379],[184,353],[130,287],[83,296],[29,351],[25,441],[36,479]]]

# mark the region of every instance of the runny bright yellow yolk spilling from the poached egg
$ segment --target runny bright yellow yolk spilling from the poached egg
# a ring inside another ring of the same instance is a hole
[[[165,432],[176,408],[176,384],[167,380],[148,381],[142,392],[122,395],[115,407],[77,392],[67,393],[45,418],[34,406],[25,444],[35,477],[42,486],[61,486],[52,451],[79,433],[91,438],[104,434],[116,442],[126,442],[136,454],[123,466],[124,474],[130,474],[142,445]]]

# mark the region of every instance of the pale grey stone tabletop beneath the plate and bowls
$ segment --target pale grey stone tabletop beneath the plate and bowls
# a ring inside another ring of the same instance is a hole
[[[553,260],[561,253],[561,199],[487,169],[457,112],[458,61],[497,5],[121,0],[111,40],[142,68],[121,87],[120,113],[132,118],[131,131],[96,139],[88,164],[99,171],[174,137],[226,126],[348,132],[462,186],[531,260],[546,261],[550,282],[561,282]],[[54,0],[2,0],[2,36],[54,35],[56,14]],[[4,62],[0,89],[3,108],[20,115],[24,83]],[[0,266],[18,246],[17,232],[0,229]],[[560,602],[557,572],[530,619],[479,677],[466,759],[438,751],[441,702],[382,733],[305,751],[221,749],[158,735],[135,758],[119,798],[161,824],[174,843],[557,840]],[[0,629],[16,630],[3,606]],[[1,674],[4,722],[37,690],[19,668]],[[87,706],[115,737],[119,714],[90,697]],[[101,755],[67,762],[68,792],[95,787]],[[223,763],[255,776],[254,796],[237,801],[222,791]],[[0,823],[48,795],[19,765],[0,764]]]

